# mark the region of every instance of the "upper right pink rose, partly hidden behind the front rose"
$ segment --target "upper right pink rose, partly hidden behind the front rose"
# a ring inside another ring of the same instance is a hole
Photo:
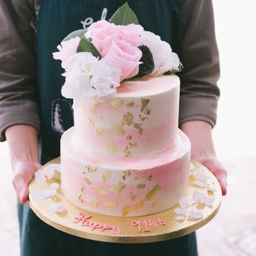
[[[127,26],[117,26],[119,39],[129,42],[132,46],[139,47],[142,45],[145,37],[140,36],[143,27],[140,25],[130,24]]]

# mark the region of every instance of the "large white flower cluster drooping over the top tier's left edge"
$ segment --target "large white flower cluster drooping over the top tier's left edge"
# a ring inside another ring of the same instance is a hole
[[[116,94],[120,86],[121,70],[112,62],[94,57],[92,53],[80,52],[67,62],[66,82],[61,93],[66,98],[73,98],[73,108],[82,102],[94,104],[102,102]]]

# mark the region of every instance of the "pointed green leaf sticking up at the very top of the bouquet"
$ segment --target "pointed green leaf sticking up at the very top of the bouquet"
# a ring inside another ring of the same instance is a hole
[[[138,18],[133,12],[133,10],[129,7],[127,2],[118,8],[118,10],[113,14],[110,19],[110,23],[114,23],[115,25],[129,25],[135,24],[138,25]]]

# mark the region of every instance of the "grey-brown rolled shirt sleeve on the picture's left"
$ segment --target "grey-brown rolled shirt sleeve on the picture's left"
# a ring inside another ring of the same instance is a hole
[[[33,15],[25,0],[0,1],[0,141],[15,124],[40,129]]]

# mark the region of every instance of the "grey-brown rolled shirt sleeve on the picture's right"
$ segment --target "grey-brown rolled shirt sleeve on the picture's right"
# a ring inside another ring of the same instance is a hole
[[[182,26],[183,71],[180,77],[179,125],[203,120],[216,124],[220,91],[219,52],[211,0],[177,0]]]

